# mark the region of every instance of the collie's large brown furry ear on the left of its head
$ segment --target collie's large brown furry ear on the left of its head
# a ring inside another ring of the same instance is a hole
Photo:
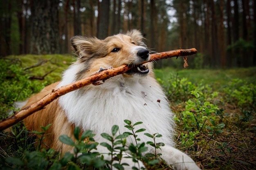
[[[101,40],[94,37],[86,36],[74,36],[71,38],[71,44],[74,49],[74,53],[79,58],[90,58],[90,57],[103,57],[107,55],[106,51],[99,50],[103,48]],[[106,54],[105,54],[106,53]]]

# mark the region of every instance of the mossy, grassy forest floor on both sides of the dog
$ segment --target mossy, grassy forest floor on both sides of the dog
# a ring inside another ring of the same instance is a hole
[[[12,102],[26,99],[44,86],[60,80],[62,71],[74,61],[70,55],[20,55],[8,58],[0,62],[2,117],[5,117],[3,114]],[[155,69],[155,76],[166,91],[175,113],[178,149],[190,155],[202,169],[255,169],[255,67],[201,70],[167,67]],[[16,157],[17,162],[29,162],[26,151],[37,150],[31,146],[35,141],[28,139],[25,131],[13,132],[14,137],[0,133],[0,162],[3,168],[24,168],[25,163],[11,166],[6,158]],[[54,161],[51,162],[53,159],[56,161],[56,155],[49,158],[48,154],[50,163],[45,169],[54,164]],[[148,169],[172,168],[161,161],[148,166]]]

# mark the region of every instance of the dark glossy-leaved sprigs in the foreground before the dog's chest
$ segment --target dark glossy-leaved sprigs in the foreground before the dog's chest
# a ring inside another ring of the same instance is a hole
[[[125,120],[125,122],[130,122],[129,120]],[[142,122],[137,122],[135,124],[131,124],[130,126],[136,126],[138,124],[142,124]],[[46,127],[41,127],[42,132],[34,131],[36,135],[38,135],[37,143],[39,145],[42,144],[42,140],[44,135],[47,135],[45,132],[50,127],[50,124]],[[23,126],[23,130],[25,127]],[[128,128],[129,129],[129,128]],[[132,130],[132,129],[129,129]],[[137,130],[134,132],[137,134],[138,132],[142,132],[144,130]],[[123,134],[118,134],[119,127],[117,125],[112,126],[111,135],[107,133],[102,133],[101,136],[107,139],[108,142],[102,142],[100,145],[106,147],[108,149],[108,153],[99,153],[97,151],[97,146],[99,145],[94,141],[93,137],[95,136],[91,130],[87,130],[82,133],[80,136],[80,129],[78,127],[74,128],[74,138],[68,137],[67,135],[61,135],[59,140],[63,144],[67,144],[72,146],[73,152],[66,152],[61,159],[57,159],[58,153],[52,149],[41,149],[41,146],[36,148],[36,150],[21,150],[20,156],[18,157],[7,157],[2,160],[0,168],[3,170],[11,170],[11,169],[27,169],[27,170],[61,170],[61,169],[97,169],[97,170],[112,170],[113,168],[123,170],[124,166],[129,166],[128,163],[121,163],[122,159],[131,159],[133,162],[138,163],[138,160],[143,160],[147,163],[148,166],[155,166],[159,161],[157,158],[160,156],[159,154],[153,156],[155,159],[150,159],[152,155],[149,153],[146,154],[147,157],[144,157],[143,153],[148,150],[145,143],[136,143],[130,144],[130,146],[126,146],[126,137],[129,136],[128,132],[124,132]],[[14,133],[15,138],[22,134]],[[160,148],[160,146],[164,146],[163,143],[155,143],[155,138],[162,137],[162,135],[154,134],[150,135],[145,133],[146,136],[152,138],[154,142],[148,141],[147,144],[155,148]],[[137,135],[135,135],[137,136]],[[73,140],[75,139],[75,141]],[[138,139],[138,138],[136,138]],[[23,152],[22,152],[23,151]],[[125,152],[130,152],[130,156]],[[111,156],[110,160],[104,159],[104,154],[108,154]],[[108,166],[106,166],[108,165]],[[137,164],[139,167],[139,164]],[[136,167],[132,167],[132,169],[138,169]],[[139,169],[144,169],[139,167]]]

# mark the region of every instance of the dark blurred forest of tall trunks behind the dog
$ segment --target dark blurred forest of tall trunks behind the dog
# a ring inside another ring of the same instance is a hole
[[[256,66],[254,0],[2,0],[0,18],[0,57],[72,53],[74,35],[139,29],[152,51],[198,49],[192,68]]]

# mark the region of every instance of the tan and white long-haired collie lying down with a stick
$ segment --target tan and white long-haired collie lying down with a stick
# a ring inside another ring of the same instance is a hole
[[[105,40],[85,36],[73,37],[71,43],[77,61],[64,71],[61,82],[45,87],[40,93],[32,96],[23,108],[38,101],[54,88],[76,82],[103,69],[123,64],[133,67],[124,74],[106,79],[100,85],[91,84],[54,100],[25,119],[28,130],[40,131],[40,126],[52,124],[47,131],[49,135],[43,140],[44,143],[58,151],[67,152],[72,148],[61,143],[58,137],[63,134],[72,137],[76,126],[79,126],[82,132],[93,130],[96,134],[95,141],[106,142],[100,134],[111,134],[113,125],[118,125],[120,133],[123,133],[127,131],[124,127],[125,119],[132,123],[142,121],[143,124],[139,125],[139,128],[145,128],[145,132],[149,134],[162,135],[156,142],[163,142],[165,146],[157,149],[157,153],[162,154],[161,158],[168,165],[178,170],[199,170],[189,156],[174,148],[173,113],[154,77],[153,65],[141,65],[150,59],[143,39],[137,30],[113,35]],[[141,142],[150,141],[144,133],[137,135]],[[126,140],[127,145],[135,143],[135,139],[130,136]],[[153,152],[153,148],[148,148]],[[108,153],[108,150],[99,145],[97,152]],[[110,159],[108,155],[104,157]],[[126,169],[135,165],[130,158],[122,160],[130,165],[125,166]],[[143,166],[142,162],[139,163]]]

